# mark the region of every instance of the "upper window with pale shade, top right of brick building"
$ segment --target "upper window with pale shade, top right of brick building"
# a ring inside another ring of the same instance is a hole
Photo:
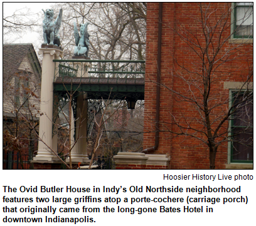
[[[233,38],[253,38],[253,3],[234,4]]]

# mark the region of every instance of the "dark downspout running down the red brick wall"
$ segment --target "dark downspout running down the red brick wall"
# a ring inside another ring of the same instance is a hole
[[[163,3],[159,3],[158,12],[158,39],[157,39],[157,77],[156,77],[156,136],[155,145],[142,150],[142,152],[151,152],[157,150],[159,146],[159,115],[160,115],[160,75],[161,75],[161,46],[162,46],[162,18]]]

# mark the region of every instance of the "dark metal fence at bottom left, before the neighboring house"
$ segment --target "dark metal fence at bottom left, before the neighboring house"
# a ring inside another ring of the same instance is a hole
[[[3,170],[29,170],[33,169],[31,156],[14,152],[3,152]]]

